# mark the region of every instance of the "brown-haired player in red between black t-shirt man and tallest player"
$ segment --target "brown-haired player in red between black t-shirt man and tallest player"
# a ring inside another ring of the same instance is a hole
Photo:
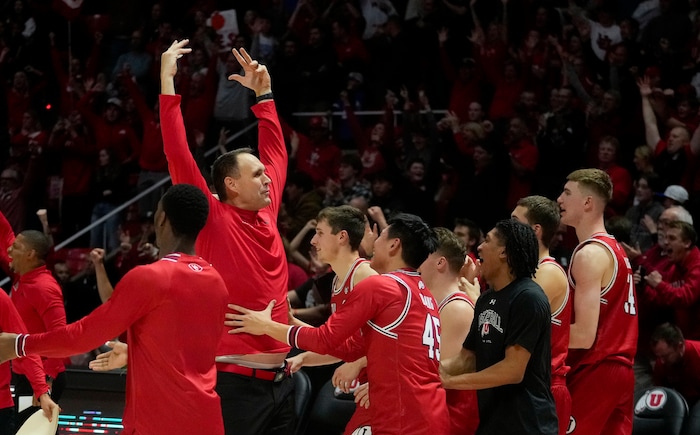
[[[544,196],[526,196],[518,200],[511,217],[535,230],[539,261],[534,281],[549,299],[552,312],[552,396],[559,419],[559,435],[566,434],[571,417],[571,394],[566,387],[566,356],[569,353],[571,298],[566,272],[549,255],[549,244],[559,229],[559,206]]]

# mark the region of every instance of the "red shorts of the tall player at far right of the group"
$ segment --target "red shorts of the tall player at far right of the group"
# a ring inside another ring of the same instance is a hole
[[[572,434],[629,435],[634,412],[634,371],[602,361],[568,375]]]

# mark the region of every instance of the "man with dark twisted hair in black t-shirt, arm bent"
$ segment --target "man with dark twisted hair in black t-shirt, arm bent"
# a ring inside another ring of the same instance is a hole
[[[478,247],[488,283],[461,352],[441,364],[445,388],[477,390],[477,433],[558,433],[550,391],[550,308],[532,280],[539,259],[533,229],[502,220]],[[507,416],[507,418],[504,418]]]

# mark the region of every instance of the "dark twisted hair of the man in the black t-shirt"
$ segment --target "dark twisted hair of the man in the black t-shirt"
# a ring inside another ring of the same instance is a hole
[[[495,230],[506,248],[511,273],[516,278],[532,278],[539,262],[539,244],[535,230],[515,219],[498,221]]]

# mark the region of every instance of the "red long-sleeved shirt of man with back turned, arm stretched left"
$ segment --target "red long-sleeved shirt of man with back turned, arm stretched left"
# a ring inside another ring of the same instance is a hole
[[[223,434],[214,358],[227,291],[202,258],[169,254],[124,275],[80,321],[30,334],[27,354],[87,352],[124,330],[129,369],[122,434]]]

